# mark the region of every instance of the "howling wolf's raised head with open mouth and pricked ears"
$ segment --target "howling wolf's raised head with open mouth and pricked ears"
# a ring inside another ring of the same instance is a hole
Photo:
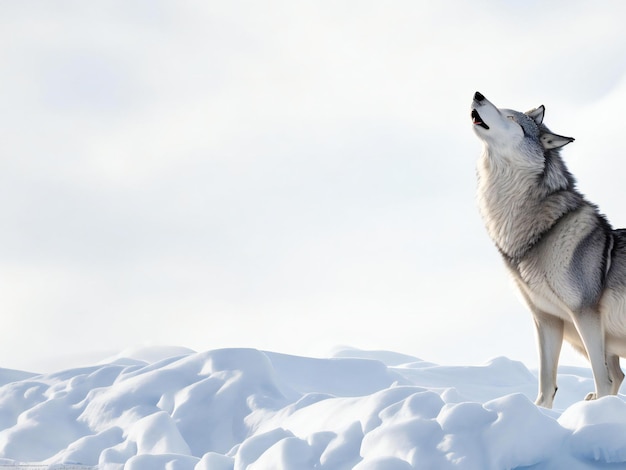
[[[474,132],[487,147],[501,154],[542,156],[573,142],[572,137],[554,134],[543,125],[545,108],[539,106],[525,113],[496,108],[481,93],[474,94],[472,122]]]

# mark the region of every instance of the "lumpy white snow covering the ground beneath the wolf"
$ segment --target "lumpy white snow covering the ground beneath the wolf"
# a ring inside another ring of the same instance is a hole
[[[538,408],[536,373],[504,357],[153,347],[0,384],[0,469],[626,468],[623,397],[581,401],[589,370],[562,367]]]

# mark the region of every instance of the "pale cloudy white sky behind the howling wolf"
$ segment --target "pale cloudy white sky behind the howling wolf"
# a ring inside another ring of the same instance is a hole
[[[625,14],[0,2],[0,365],[347,345],[536,366],[477,209],[471,99],[544,104],[579,188],[626,226]]]

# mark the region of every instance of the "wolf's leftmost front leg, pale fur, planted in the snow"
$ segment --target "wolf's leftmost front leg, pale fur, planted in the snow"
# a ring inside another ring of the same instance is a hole
[[[539,349],[539,393],[535,404],[552,408],[556,395],[556,372],[563,345],[563,320],[533,312]]]

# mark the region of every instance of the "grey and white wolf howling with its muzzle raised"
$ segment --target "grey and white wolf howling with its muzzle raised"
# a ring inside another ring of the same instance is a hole
[[[576,188],[560,150],[573,142],[544,124],[545,107],[472,101],[478,203],[491,239],[528,305],[539,349],[535,403],[551,408],[563,340],[591,363],[595,392],[617,394],[626,356],[626,229],[614,230]]]

